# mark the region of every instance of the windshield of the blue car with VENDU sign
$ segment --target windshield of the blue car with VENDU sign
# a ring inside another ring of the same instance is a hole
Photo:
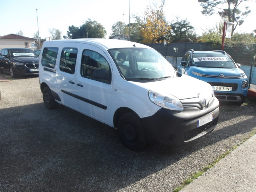
[[[234,61],[227,55],[221,53],[194,53],[192,65],[208,68],[236,68]]]

